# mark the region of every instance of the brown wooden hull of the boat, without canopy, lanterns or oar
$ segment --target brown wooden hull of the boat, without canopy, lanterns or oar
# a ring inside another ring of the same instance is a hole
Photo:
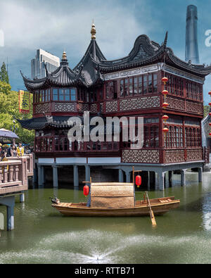
[[[180,201],[174,200],[174,196],[172,196],[150,199],[150,203],[154,215],[163,215],[173,208],[178,208]],[[87,203],[53,203],[51,206],[67,216],[126,217],[150,215],[146,200],[136,201],[134,208],[87,207]]]

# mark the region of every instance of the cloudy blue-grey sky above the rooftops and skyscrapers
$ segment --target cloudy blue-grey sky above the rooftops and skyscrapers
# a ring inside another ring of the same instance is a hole
[[[167,46],[184,60],[190,4],[198,7],[200,63],[210,64],[211,46],[205,45],[205,32],[211,30],[210,0],[0,0],[0,64],[8,57],[14,90],[24,88],[20,70],[30,77],[30,61],[39,48],[58,57],[65,49],[73,68],[89,45],[92,18],[96,40],[108,60],[127,56],[140,34],[161,44],[167,30]],[[204,87],[206,104],[210,89],[209,76]]]

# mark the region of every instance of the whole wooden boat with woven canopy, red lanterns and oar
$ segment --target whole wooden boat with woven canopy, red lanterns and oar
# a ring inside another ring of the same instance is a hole
[[[179,207],[179,200],[172,197],[149,199],[146,192],[143,200],[135,201],[134,194],[134,173],[133,183],[127,182],[88,182],[91,193],[91,202],[87,203],[60,203],[58,198],[52,199],[53,208],[56,208],[63,215],[68,216],[91,216],[91,217],[119,217],[119,216],[144,216],[150,215],[152,225],[156,226],[154,215],[162,215],[173,208]],[[87,183],[87,182],[84,182]],[[136,182],[137,184],[137,182]],[[141,177],[137,186],[141,184]],[[85,186],[87,187],[87,186]],[[88,188],[88,189],[89,189]],[[84,191],[84,194],[86,193]]]

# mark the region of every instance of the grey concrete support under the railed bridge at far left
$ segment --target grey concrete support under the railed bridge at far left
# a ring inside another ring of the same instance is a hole
[[[6,226],[7,230],[11,231],[12,229],[14,229],[15,196],[0,198],[0,204],[6,206]]]

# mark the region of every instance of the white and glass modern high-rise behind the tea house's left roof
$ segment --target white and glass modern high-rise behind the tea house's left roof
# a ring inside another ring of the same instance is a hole
[[[44,51],[43,49],[37,49],[36,58],[31,61],[31,77],[32,79],[40,79],[46,77],[46,70],[51,73],[60,66],[60,58],[52,55],[51,53]]]

